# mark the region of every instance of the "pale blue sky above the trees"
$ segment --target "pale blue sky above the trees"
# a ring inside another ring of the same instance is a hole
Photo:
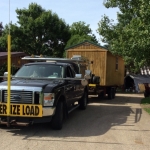
[[[104,14],[117,22],[118,12],[117,8],[105,8],[103,2],[104,0],[0,0],[0,22],[3,26],[8,24],[9,20],[12,23],[17,23],[15,10],[17,8],[27,9],[29,4],[37,3],[45,10],[56,13],[59,18],[64,19],[69,25],[78,21],[83,21],[86,25],[89,24],[98,41],[103,44],[100,35],[96,32],[98,22]]]

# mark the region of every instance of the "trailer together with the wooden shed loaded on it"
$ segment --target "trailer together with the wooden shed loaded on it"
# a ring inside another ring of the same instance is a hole
[[[109,99],[115,97],[116,88],[124,84],[125,66],[122,57],[115,56],[105,47],[90,41],[81,42],[65,50],[67,58],[80,55],[89,60],[87,67],[92,71],[89,95],[107,95]]]

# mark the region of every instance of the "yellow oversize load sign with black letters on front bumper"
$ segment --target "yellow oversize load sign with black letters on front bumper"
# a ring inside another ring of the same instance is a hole
[[[0,103],[0,116],[7,116],[7,104]],[[42,117],[42,105],[10,104],[10,116]]]

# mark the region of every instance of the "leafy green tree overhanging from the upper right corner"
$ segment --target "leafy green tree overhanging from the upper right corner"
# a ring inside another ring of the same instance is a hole
[[[150,5],[149,0],[106,0],[106,8],[118,7],[118,23],[103,16],[98,33],[114,54],[124,57],[127,66],[136,72],[150,65]]]

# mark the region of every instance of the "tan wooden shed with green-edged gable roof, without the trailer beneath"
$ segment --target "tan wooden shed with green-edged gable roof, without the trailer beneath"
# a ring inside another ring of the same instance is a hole
[[[101,86],[113,86],[124,84],[124,60],[122,57],[114,56],[105,47],[90,41],[84,41],[66,49],[66,57],[82,55],[87,57],[92,64],[90,70],[96,76],[100,76]]]

